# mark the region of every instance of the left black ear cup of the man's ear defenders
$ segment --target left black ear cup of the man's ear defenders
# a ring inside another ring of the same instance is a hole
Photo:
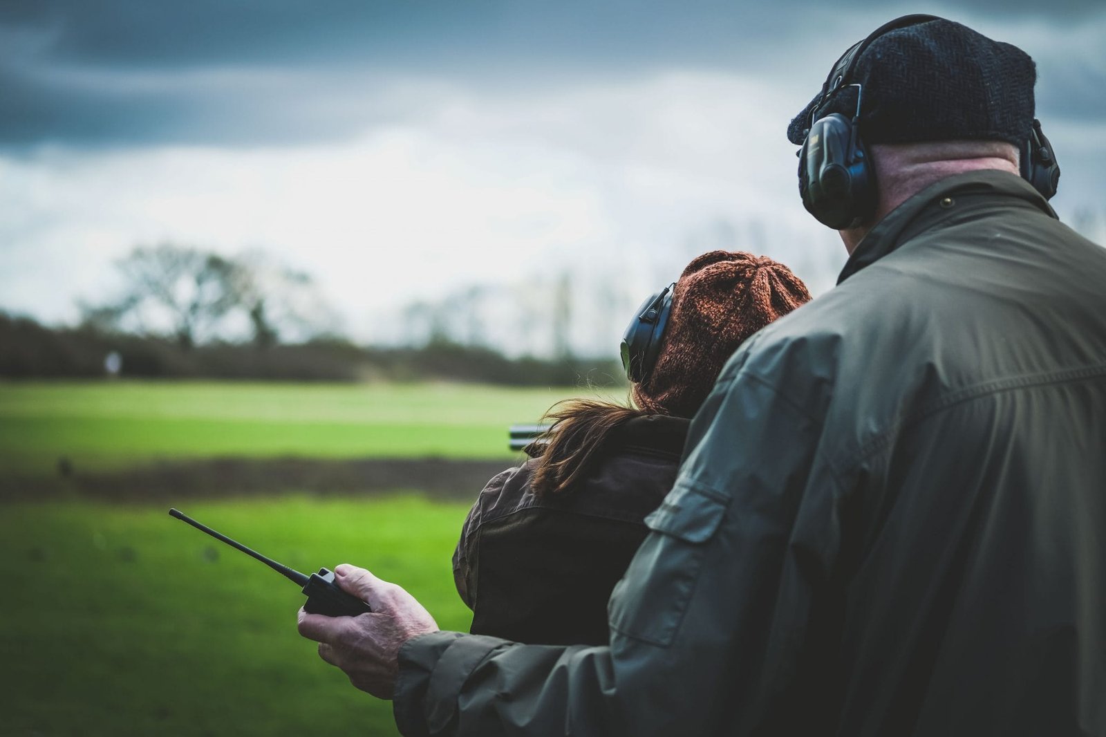
[[[855,228],[875,212],[875,177],[853,123],[839,113],[811,126],[799,158],[803,206],[835,230]]]

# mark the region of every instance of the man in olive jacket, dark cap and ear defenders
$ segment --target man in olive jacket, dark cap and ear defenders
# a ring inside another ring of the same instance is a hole
[[[1106,250],[1019,176],[1029,56],[889,25],[789,131],[839,284],[722,372],[609,645],[436,632],[353,567],[374,614],[301,612],[404,734],[1106,735]]]

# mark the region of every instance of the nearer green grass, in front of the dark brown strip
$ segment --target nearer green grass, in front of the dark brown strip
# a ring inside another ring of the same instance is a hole
[[[417,496],[181,508],[303,572],[371,568],[453,630],[470,622],[449,562],[466,510]],[[390,703],[296,634],[295,584],[166,512],[0,508],[0,734],[396,734]]]

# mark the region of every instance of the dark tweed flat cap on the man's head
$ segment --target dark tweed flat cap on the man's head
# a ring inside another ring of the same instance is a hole
[[[845,84],[864,86],[859,133],[866,143],[1005,141],[1020,145],[1033,123],[1036,68],[1018,46],[938,19],[872,41]],[[824,89],[823,89],[824,91]],[[801,145],[812,115],[856,113],[845,86],[818,107],[820,93],[787,126]]]

